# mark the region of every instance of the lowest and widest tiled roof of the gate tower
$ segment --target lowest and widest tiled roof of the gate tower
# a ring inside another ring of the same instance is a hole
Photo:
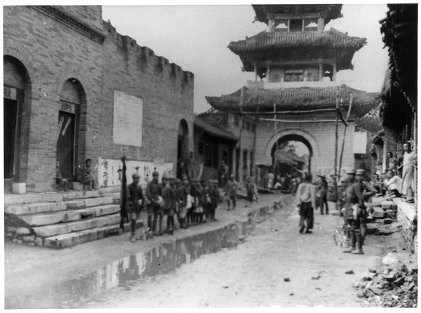
[[[300,111],[309,109],[334,109],[337,98],[336,87],[324,88],[281,88],[249,89],[243,87],[243,112],[272,112],[274,105],[279,111]],[[353,95],[353,107],[357,116],[367,114],[379,104],[375,93],[366,93],[348,86],[340,87],[340,98],[344,107],[348,107],[350,95]],[[239,112],[241,89],[230,95],[206,97],[212,107],[229,112]]]

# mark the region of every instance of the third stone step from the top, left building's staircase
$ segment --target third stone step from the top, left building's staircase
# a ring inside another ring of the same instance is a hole
[[[115,204],[105,206],[95,206],[93,208],[81,208],[79,210],[66,210],[48,213],[35,213],[20,215],[20,219],[29,226],[51,225],[61,222],[72,222],[87,218],[96,218],[102,215],[114,214],[120,211],[120,207]]]

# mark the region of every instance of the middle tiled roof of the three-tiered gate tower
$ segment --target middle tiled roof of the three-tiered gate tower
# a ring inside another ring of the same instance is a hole
[[[334,28],[326,32],[260,32],[246,40],[232,41],[228,48],[239,54],[244,51],[262,51],[274,48],[291,47],[330,47],[361,48],[366,44],[365,38],[351,37]]]

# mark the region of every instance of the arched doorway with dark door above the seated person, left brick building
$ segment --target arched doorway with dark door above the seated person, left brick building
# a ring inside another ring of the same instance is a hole
[[[73,179],[76,164],[85,156],[86,95],[77,79],[68,79],[60,92],[58,112],[57,160],[62,178]]]

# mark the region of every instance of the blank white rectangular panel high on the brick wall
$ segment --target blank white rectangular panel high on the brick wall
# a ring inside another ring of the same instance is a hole
[[[142,146],[143,100],[114,91],[112,141],[121,145]]]

